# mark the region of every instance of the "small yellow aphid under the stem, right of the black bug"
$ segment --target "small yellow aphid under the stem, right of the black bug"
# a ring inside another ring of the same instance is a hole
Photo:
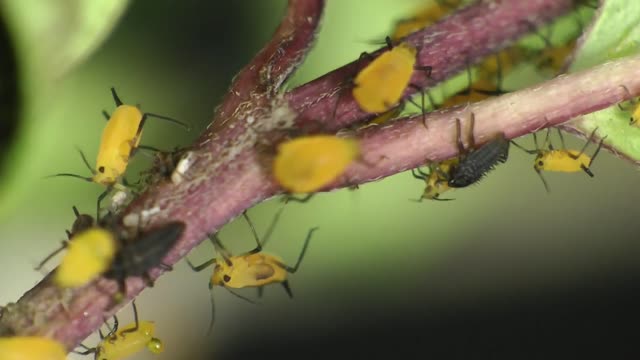
[[[589,136],[589,139],[584,144],[582,149],[580,149],[580,151],[567,149],[564,143],[564,137],[562,136],[562,132],[560,132],[560,129],[558,129],[558,135],[560,136],[560,141],[562,142],[562,149],[554,149],[553,145],[551,145],[551,142],[549,141],[549,134],[551,132],[550,128],[547,128],[547,135],[545,137],[542,148],[538,147],[538,139],[535,133],[533,133],[533,140],[536,145],[535,150],[527,150],[522,146],[518,145],[514,141],[511,141],[511,143],[513,143],[518,148],[524,150],[529,154],[536,155],[536,158],[533,164],[533,169],[536,171],[536,173],[538,173],[538,175],[540,176],[540,179],[542,179],[542,183],[544,184],[545,189],[549,191],[549,185],[547,184],[547,181],[542,176],[542,171],[568,172],[568,173],[584,171],[590,177],[594,176],[593,173],[591,172],[591,164],[593,163],[593,160],[596,158],[596,156],[600,152],[602,143],[604,142],[604,139],[606,139],[607,137],[605,136],[600,139],[598,148],[596,149],[596,151],[593,153],[592,156],[585,154],[584,151],[587,149],[587,146],[589,146],[589,143],[591,143],[591,141],[594,139],[597,130],[598,128],[595,128],[593,130],[593,132],[591,133],[591,136]]]

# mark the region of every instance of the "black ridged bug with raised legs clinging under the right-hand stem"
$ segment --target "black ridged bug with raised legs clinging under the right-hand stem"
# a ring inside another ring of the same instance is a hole
[[[473,126],[475,116],[471,113],[469,143],[470,148],[475,148]],[[494,140],[484,144],[475,150],[467,150],[462,143],[460,119],[456,119],[456,131],[460,162],[451,168],[448,184],[452,188],[462,188],[474,184],[482,179],[489,171],[499,163],[507,161],[509,156],[509,140],[504,134],[499,134]]]

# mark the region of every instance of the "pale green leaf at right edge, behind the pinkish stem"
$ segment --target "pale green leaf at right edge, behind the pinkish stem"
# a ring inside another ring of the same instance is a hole
[[[570,71],[638,53],[640,48],[640,2],[607,0],[600,9],[585,42],[578,50]],[[623,85],[623,84],[620,84]],[[620,91],[624,91],[623,88]],[[596,127],[605,144],[618,153],[640,161],[640,129],[629,125],[631,106],[617,106],[583,116],[575,126],[585,135]]]

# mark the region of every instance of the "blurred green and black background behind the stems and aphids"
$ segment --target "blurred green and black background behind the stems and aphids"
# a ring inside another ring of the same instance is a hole
[[[422,3],[329,2],[316,46],[290,85],[376,49],[371,42],[383,40],[394,21]],[[93,212],[100,186],[43,177],[89,175],[75,147],[93,162],[104,126],[100,112],[114,108],[109,88],[115,86],[125,102],[194,125],[185,133],[150,121],[143,143],[167,150],[189,144],[232,76],[270,38],[285,5],[131,2],[105,42],[57,80],[39,115],[26,119],[31,125],[22,136],[30,140],[21,142],[20,155],[2,160],[2,176],[18,169],[20,178],[3,189],[13,193],[12,201],[0,204],[0,304],[16,301],[42,278],[33,268],[65,238],[72,205]],[[573,147],[583,143],[568,137]],[[519,142],[533,147],[530,137]],[[604,151],[592,166],[594,178],[548,174],[546,193],[532,161],[512,148],[508,163],[481,183],[447,194],[455,201],[411,201],[424,184],[407,172],[287,205],[268,251],[293,264],[309,228],[320,227],[291,276],[293,299],[277,285],[265,289],[258,305],[215,289],[215,326],[207,336],[210,271],[194,273],[178,263],[137,300],[141,318],[156,322],[166,351],[133,358],[502,359],[637,352],[636,334],[624,326],[637,323],[640,300],[637,168]],[[137,156],[128,173],[149,164]],[[249,211],[259,233],[278,206],[269,201]],[[225,226],[220,238],[234,253],[254,245],[241,220]],[[213,254],[204,242],[188,257],[201,263]],[[257,300],[253,289],[239,293]],[[131,321],[131,308],[119,317]],[[94,335],[84,343],[97,340]]]

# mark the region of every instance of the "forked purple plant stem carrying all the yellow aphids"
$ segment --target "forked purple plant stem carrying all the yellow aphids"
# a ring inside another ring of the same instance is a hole
[[[475,62],[528,32],[522,19],[535,19],[536,24],[547,21],[565,13],[570,4],[568,0],[504,0],[490,7],[482,2],[435,25],[437,31],[429,28],[417,32],[409,40],[425,44],[420,61],[433,65],[434,73],[433,79],[421,78],[424,75],[416,73],[414,81],[430,86],[444,80],[464,68],[469,59]],[[176,220],[187,224],[164,263],[176,264],[207,233],[219,230],[242,211],[282,192],[270,175],[272,153],[260,146],[266,139],[263,131],[293,126],[299,112],[304,114],[297,125],[318,123],[333,130],[368,116],[352,109],[353,100],[349,96],[344,96],[344,103],[341,100],[336,119],[328,115],[338,98],[336,89],[339,90],[339,84],[346,86],[357,69],[355,63],[284,97],[277,95],[313,41],[322,5],[317,0],[289,2],[288,13],[274,39],[236,77],[216,111],[214,125],[190,149],[194,162],[184,174],[185,180],[173,183],[164,179],[153,184],[119,214],[121,219],[131,216],[139,219],[142,230]],[[492,12],[499,15],[494,18]],[[475,30],[467,34],[466,26]],[[445,29],[451,30],[449,35],[442,33]],[[461,34],[471,36],[472,40]],[[414,117],[358,131],[363,156],[373,165],[354,164],[344,179],[325,190],[389,176],[420,165],[426,158],[441,160],[454,156],[452,121],[455,117],[465,120],[471,111],[476,115],[475,134],[481,144],[499,131],[516,137],[609,106],[627,96],[637,96],[639,65],[640,58],[624,59],[467,108],[430,113],[428,130],[424,129],[421,117]],[[617,90],[621,84],[631,94]],[[160,269],[154,269],[150,275],[156,279],[161,273]],[[59,340],[71,349],[126,303],[113,302],[117,287],[114,281],[100,278],[82,288],[63,291],[51,283],[50,275],[17,304],[4,308],[0,335],[39,334]],[[141,279],[129,278],[126,299],[132,299],[144,288]]]

